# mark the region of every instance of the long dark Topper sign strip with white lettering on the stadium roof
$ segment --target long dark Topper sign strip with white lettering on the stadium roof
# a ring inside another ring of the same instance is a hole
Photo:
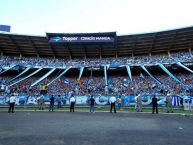
[[[114,42],[112,36],[63,36],[51,37],[50,43],[80,43],[80,42]]]

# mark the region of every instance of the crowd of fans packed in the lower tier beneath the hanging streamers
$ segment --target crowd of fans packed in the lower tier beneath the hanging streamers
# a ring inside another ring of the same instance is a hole
[[[77,96],[88,95],[88,90],[93,94],[101,95],[135,95],[135,94],[164,94],[170,91],[173,94],[190,93],[193,88],[193,75],[190,73],[176,74],[176,76],[183,82],[179,84],[167,75],[156,75],[155,77],[162,82],[159,84],[148,75],[133,76],[131,82],[128,76],[108,76],[108,86],[105,85],[105,79],[101,76],[85,76],[80,80],[74,77],[61,77],[47,86],[47,95],[62,95],[70,96],[72,93]],[[1,77],[1,82],[7,82],[11,77]],[[15,92],[20,95],[39,95],[42,90],[42,85],[47,85],[53,77],[48,77],[34,87],[30,85],[35,82],[38,77],[31,77],[21,83],[11,87],[3,87],[4,92]],[[3,92],[2,92],[3,95]]]

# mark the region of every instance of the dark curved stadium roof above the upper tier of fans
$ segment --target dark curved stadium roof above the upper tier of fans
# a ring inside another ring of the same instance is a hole
[[[96,33],[96,35],[99,34]],[[113,35],[113,33],[107,34]],[[59,34],[56,33],[55,35]],[[105,37],[104,39],[100,37],[97,39],[111,40],[110,37]],[[157,55],[160,53],[168,54],[182,50],[191,52],[192,47],[193,27],[147,34],[117,36],[114,43],[49,43],[47,36],[0,33],[1,54],[12,56],[52,58],[131,57]]]

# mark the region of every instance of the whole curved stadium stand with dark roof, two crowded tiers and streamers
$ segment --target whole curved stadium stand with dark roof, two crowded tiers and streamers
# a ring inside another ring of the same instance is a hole
[[[47,37],[1,33],[0,104],[6,104],[12,92],[25,96],[27,104],[29,97],[40,95],[43,84],[47,85],[45,97],[61,95],[63,104],[71,94],[89,96],[88,90],[103,96],[98,104],[105,104],[105,97],[112,95],[124,97],[125,105],[132,104],[139,93],[144,104],[150,104],[153,94],[192,96],[192,32],[189,27],[117,36],[113,44],[53,44],[48,42],[50,33]]]

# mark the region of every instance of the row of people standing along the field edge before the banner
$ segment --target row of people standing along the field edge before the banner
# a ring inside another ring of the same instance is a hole
[[[44,109],[44,95],[41,95],[40,97],[38,97],[37,100],[38,100],[39,110],[43,110]],[[49,100],[50,100],[49,111],[54,111],[54,102],[55,102],[54,95],[52,95]],[[142,97],[141,97],[141,95],[138,94],[135,97],[135,100],[136,100],[135,108],[136,108],[137,112],[142,112]],[[9,99],[9,110],[8,110],[9,113],[10,112],[14,113],[15,102],[16,102],[16,96],[15,96],[15,94],[13,94]],[[58,105],[57,105],[58,108],[61,108],[62,97],[60,95],[58,95],[57,102],[58,102]],[[76,103],[76,98],[74,97],[73,94],[71,95],[69,102],[70,102],[70,112],[74,112],[74,106]],[[94,108],[95,108],[96,102],[95,102],[93,95],[90,95],[88,103],[90,105],[90,112],[94,113]],[[116,104],[118,106],[118,109],[121,110],[122,98],[119,97],[118,99],[116,99],[115,96],[111,96],[109,99],[109,103],[110,103],[110,113],[112,113],[112,111],[114,111],[114,113],[116,113]],[[165,99],[165,103],[166,103],[167,113],[173,113],[172,97],[171,97],[170,93],[167,94],[166,99]],[[152,114],[154,114],[154,112],[156,112],[156,114],[158,114],[158,99],[156,98],[155,95],[152,98]]]

